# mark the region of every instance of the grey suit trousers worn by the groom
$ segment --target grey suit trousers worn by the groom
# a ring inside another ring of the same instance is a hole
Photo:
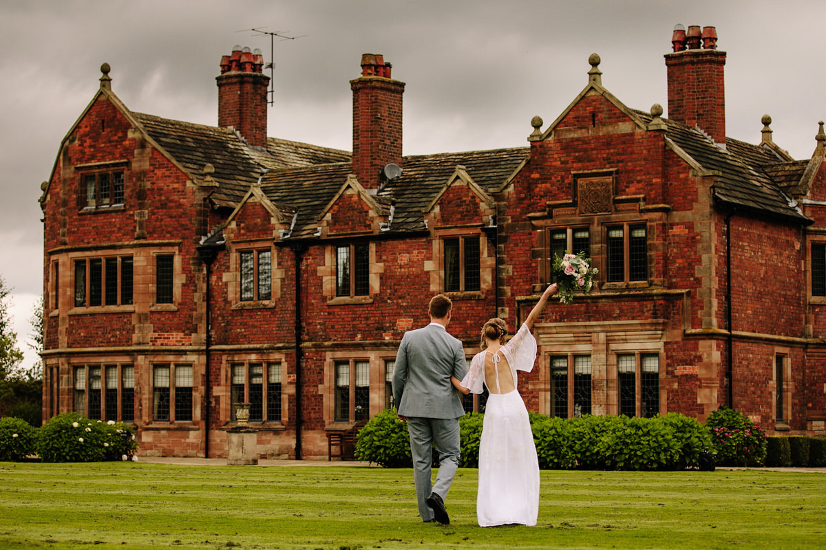
[[[411,437],[413,476],[416,500],[419,503],[421,519],[433,519],[433,510],[425,501],[431,492],[447,501],[450,484],[459,465],[459,421],[458,418],[407,418],[407,431]],[[431,486],[430,468],[433,464],[432,449],[439,453],[439,472]]]

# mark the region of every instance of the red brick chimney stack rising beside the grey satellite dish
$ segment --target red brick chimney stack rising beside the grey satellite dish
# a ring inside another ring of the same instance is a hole
[[[365,189],[377,189],[389,163],[401,166],[401,96],[405,83],[390,77],[382,55],[363,54],[353,90],[353,173]]]

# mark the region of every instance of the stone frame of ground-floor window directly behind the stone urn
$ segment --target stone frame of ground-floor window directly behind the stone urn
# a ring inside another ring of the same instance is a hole
[[[227,399],[226,405],[224,410],[222,411],[222,416],[227,419],[227,422],[230,425],[235,425],[235,403],[232,399],[232,378],[233,378],[233,367],[243,364],[244,365],[244,402],[249,402],[249,367],[252,364],[261,364],[263,367],[262,372],[262,381],[261,381],[261,401],[262,401],[262,420],[261,421],[249,421],[249,425],[252,427],[266,427],[268,429],[283,429],[287,423],[288,419],[288,399],[287,399],[287,388],[290,388],[290,385],[287,384],[287,361],[283,354],[264,354],[264,355],[254,355],[250,357],[249,355],[230,355],[224,358],[224,379],[226,384],[226,396]],[[278,364],[280,378],[281,378],[281,390],[279,393],[279,407],[281,409],[281,416],[277,421],[272,421],[269,419],[268,414],[268,398],[269,398],[269,374],[270,368],[273,365]]]

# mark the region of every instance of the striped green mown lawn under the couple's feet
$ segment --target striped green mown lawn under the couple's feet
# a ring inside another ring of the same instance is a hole
[[[826,474],[542,472],[539,524],[476,524],[459,470],[449,526],[411,470],[0,463],[0,548],[824,548]]]

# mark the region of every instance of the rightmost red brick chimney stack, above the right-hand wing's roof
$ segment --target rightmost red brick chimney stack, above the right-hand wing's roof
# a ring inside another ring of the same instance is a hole
[[[725,143],[725,52],[717,49],[713,26],[674,27],[666,54],[668,118],[698,126],[716,143]]]

